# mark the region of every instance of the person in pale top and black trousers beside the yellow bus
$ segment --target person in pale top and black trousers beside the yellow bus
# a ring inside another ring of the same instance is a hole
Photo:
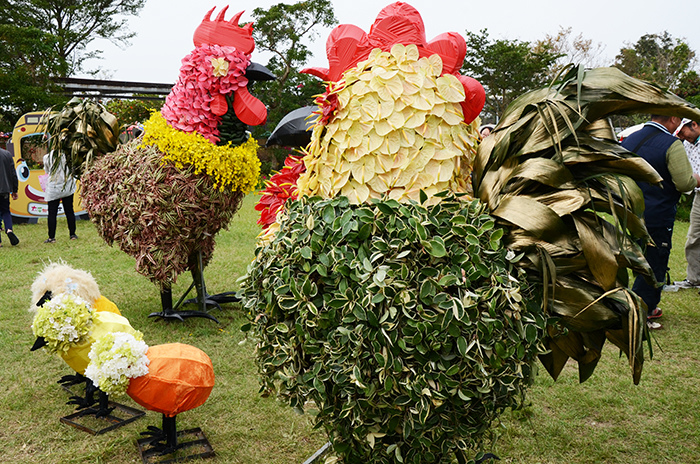
[[[54,163],[58,166],[54,169]],[[56,243],[56,218],[58,207],[63,203],[63,213],[68,221],[68,234],[71,240],[78,238],[75,235],[75,212],[73,211],[73,194],[75,193],[75,179],[68,174],[66,158],[64,155],[54,156],[54,152],[44,155],[44,171],[49,176],[44,189],[44,199],[49,204],[49,238],[44,243]]]

